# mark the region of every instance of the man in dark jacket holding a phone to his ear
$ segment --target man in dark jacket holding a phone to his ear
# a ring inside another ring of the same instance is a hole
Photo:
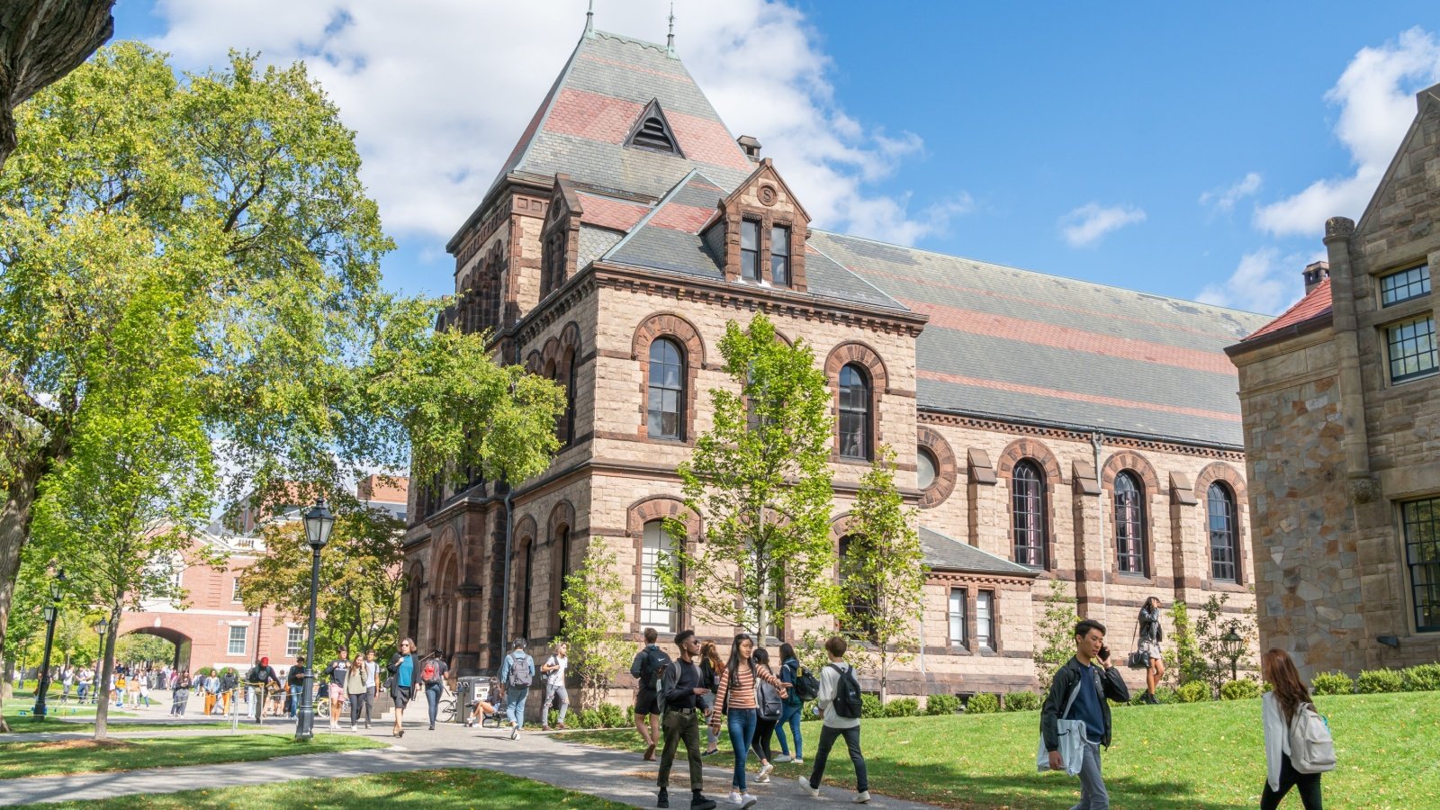
[[[1104,790],[1100,770],[1100,747],[1110,747],[1110,703],[1130,699],[1120,672],[1110,666],[1110,649],[1104,646],[1104,626],[1093,618],[1076,624],[1076,654],[1056,672],[1050,693],[1040,711],[1040,734],[1050,752],[1050,770],[1064,770],[1060,755],[1061,719],[1084,722],[1086,738],[1080,761],[1080,803],[1071,810],[1109,810],[1110,794]],[[1071,700],[1071,693],[1074,699]],[[1068,706],[1068,711],[1067,711]]]

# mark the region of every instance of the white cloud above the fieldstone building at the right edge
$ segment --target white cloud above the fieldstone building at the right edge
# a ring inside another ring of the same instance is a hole
[[[1420,27],[1380,48],[1362,48],[1325,94],[1341,108],[1335,135],[1349,150],[1355,173],[1316,180],[1260,206],[1256,228],[1274,236],[1319,235],[1331,216],[1358,218],[1416,117],[1414,94],[1437,79],[1440,42]]]

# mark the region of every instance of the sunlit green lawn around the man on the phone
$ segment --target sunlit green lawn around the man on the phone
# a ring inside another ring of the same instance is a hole
[[[1339,758],[1339,768],[1323,777],[1326,809],[1440,807],[1440,696],[1346,695],[1316,703],[1329,718]],[[1113,719],[1115,745],[1103,754],[1112,806],[1218,810],[1260,804],[1259,699],[1119,706]],[[778,777],[809,773],[819,728],[802,725],[806,764],[776,765]],[[1040,712],[867,719],[861,728],[871,790],[886,796],[976,810],[1061,809],[1080,796],[1079,780],[1035,771]],[[634,731],[579,731],[563,738],[641,751]],[[729,755],[726,748],[707,764],[723,765]],[[831,752],[825,781],[855,784],[844,742]],[[1286,801],[1299,806],[1299,798]]]

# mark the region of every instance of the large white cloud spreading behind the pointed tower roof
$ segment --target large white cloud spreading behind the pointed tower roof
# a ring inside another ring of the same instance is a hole
[[[156,43],[190,69],[230,48],[305,59],[357,133],[386,228],[444,242],[480,203],[579,40],[585,0],[156,0]],[[606,3],[596,27],[664,42],[665,0]],[[923,154],[913,133],[868,127],[835,102],[829,58],[778,0],[685,3],[677,50],[734,134],[765,144],[816,225],[913,242],[950,202],[910,212],[870,184]],[[959,199],[959,197],[958,197]]]

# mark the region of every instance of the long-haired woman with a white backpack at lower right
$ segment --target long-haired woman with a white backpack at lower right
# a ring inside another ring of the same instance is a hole
[[[1302,751],[1292,747],[1296,742],[1296,715],[1313,713],[1315,703],[1310,700],[1310,690],[1300,680],[1300,673],[1295,669],[1284,650],[1267,650],[1260,657],[1260,677],[1270,685],[1270,692],[1261,698],[1260,718],[1264,724],[1264,764],[1266,783],[1264,793],[1260,794],[1260,810],[1276,810],[1284,794],[1292,787],[1300,788],[1300,803],[1305,810],[1320,810],[1320,774],[1302,773],[1296,768],[1297,761],[1303,761]],[[1306,718],[1299,718],[1302,722]],[[1325,734],[1328,738],[1329,735]],[[1328,741],[1328,739],[1326,739]],[[1309,752],[1303,752],[1309,754]],[[1323,757],[1325,754],[1322,754]],[[1335,767],[1333,748],[1328,752],[1329,770]],[[1302,762],[1306,770],[1312,764]]]

